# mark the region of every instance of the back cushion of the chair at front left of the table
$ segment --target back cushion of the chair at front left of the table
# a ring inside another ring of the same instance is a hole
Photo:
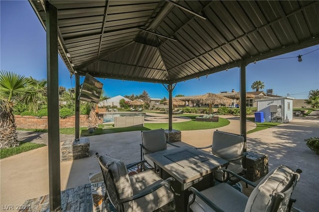
[[[128,170],[123,161],[108,155],[100,156],[102,164],[111,170],[119,198],[127,198],[133,195],[133,190],[128,175]]]

